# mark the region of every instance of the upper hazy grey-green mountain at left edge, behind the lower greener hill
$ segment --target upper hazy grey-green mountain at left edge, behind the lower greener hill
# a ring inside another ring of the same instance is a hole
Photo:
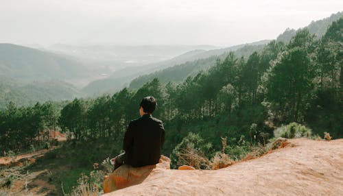
[[[70,82],[88,77],[77,60],[55,53],[12,44],[0,44],[0,77],[12,77],[21,82],[61,79]]]

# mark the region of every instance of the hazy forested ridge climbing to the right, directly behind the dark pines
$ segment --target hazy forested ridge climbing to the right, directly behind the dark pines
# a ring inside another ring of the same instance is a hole
[[[340,17],[343,16],[343,12],[338,12],[337,14],[332,14],[329,18],[322,19],[319,21],[312,21],[309,24],[307,29],[311,34],[315,34],[317,38],[320,38],[324,35],[327,28],[333,21],[337,21]],[[279,35],[276,38],[276,41],[282,42],[289,42],[289,40],[296,34],[296,30],[294,29],[286,29],[286,31]],[[263,46],[266,45],[268,42],[260,42],[261,45],[258,47],[256,45],[246,45],[245,47],[237,47],[237,49],[232,50],[235,51],[235,55],[237,57],[240,56],[249,56],[254,51],[261,51]],[[218,51],[218,50],[217,50]],[[132,79],[130,82],[130,88],[140,88],[146,82],[151,81],[154,77],[160,79],[163,84],[167,84],[168,82],[182,82],[188,76],[196,75],[199,71],[204,71],[215,64],[216,59],[224,60],[228,55],[228,51],[223,51],[224,53],[213,53],[213,56],[199,56],[197,60],[185,62],[182,64],[177,64],[175,66],[171,66],[167,69],[163,69],[160,71],[156,71],[154,73],[150,73],[148,75],[141,75],[135,79]],[[221,55],[220,55],[221,54]],[[201,55],[201,54],[200,54]]]

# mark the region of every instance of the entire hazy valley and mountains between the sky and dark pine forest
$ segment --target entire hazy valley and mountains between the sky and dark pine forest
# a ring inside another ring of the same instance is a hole
[[[329,18],[310,23],[307,28],[319,38],[340,16],[342,12],[332,14]],[[294,29],[287,28],[285,32],[280,32],[276,40],[287,42],[295,33]],[[0,44],[1,107],[5,107],[9,101],[27,105],[36,101],[71,100],[74,97],[115,93],[124,87],[139,88],[154,77],[165,84],[178,83],[190,75],[209,69],[217,59],[223,60],[230,51],[237,56],[247,57],[261,50],[270,40],[232,47],[56,44],[34,49]],[[32,92],[38,94],[33,95]],[[17,97],[14,95],[27,99],[10,99]]]

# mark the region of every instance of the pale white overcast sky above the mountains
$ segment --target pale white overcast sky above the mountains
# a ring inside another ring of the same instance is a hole
[[[342,0],[0,0],[0,42],[230,46],[342,11]]]

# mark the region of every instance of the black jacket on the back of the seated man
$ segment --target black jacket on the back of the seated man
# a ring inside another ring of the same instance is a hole
[[[164,141],[165,128],[162,121],[150,114],[131,121],[123,140],[125,163],[132,167],[158,163]]]

